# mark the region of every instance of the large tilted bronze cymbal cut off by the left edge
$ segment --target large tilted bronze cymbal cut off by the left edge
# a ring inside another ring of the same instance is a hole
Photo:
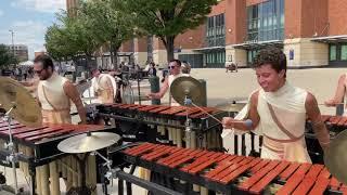
[[[11,78],[0,77],[0,104],[7,112],[15,105],[10,116],[25,126],[37,127],[42,123],[38,103],[28,90]]]

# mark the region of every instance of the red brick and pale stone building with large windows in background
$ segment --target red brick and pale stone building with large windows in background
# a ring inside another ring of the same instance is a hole
[[[175,56],[193,67],[250,66],[257,51],[274,46],[290,67],[347,66],[347,0],[223,0],[205,24],[179,35]],[[156,37],[125,42],[136,63],[166,66]]]

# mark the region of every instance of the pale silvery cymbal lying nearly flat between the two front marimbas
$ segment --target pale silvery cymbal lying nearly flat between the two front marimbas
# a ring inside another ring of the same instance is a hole
[[[79,154],[108,147],[119,141],[120,136],[111,132],[90,132],[78,134],[57,144],[63,153]]]

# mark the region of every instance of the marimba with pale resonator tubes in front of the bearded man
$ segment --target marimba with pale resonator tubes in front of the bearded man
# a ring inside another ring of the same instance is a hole
[[[67,180],[73,187],[80,183],[80,171],[77,160],[67,156],[56,148],[56,145],[64,139],[93,131],[110,131],[111,128],[97,125],[43,125],[42,127],[30,128],[11,122],[13,142],[20,152],[20,169],[26,177],[31,177],[31,192],[37,194],[60,194],[59,178]],[[9,140],[8,122],[0,121],[0,140],[2,143]],[[1,147],[0,159],[5,161],[9,151]],[[88,184],[97,184],[97,167],[92,168],[91,162],[87,170]],[[49,181],[51,180],[51,184]],[[35,182],[36,181],[36,182]],[[36,191],[35,191],[36,190]]]

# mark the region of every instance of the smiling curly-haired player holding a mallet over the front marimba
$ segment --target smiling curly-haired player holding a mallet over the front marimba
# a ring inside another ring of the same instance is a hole
[[[326,150],[330,143],[314,95],[286,80],[286,57],[278,48],[260,50],[254,67],[260,88],[250,94],[235,119],[223,118],[224,131],[254,130],[262,135],[262,158],[310,162],[304,134],[306,118],[311,120],[322,148]],[[245,119],[252,122],[240,122]]]

